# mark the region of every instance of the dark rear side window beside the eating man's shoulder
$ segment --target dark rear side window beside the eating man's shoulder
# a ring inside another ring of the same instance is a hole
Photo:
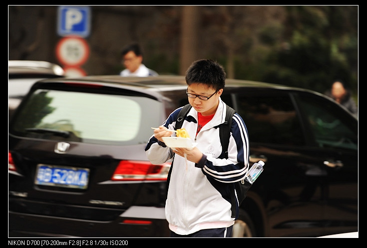
[[[252,142],[302,145],[301,127],[291,99],[285,95],[238,93],[236,110],[246,123]]]

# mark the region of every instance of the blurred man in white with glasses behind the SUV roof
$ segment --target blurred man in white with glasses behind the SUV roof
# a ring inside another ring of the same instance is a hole
[[[125,70],[121,71],[122,77],[148,77],[157,76],[158,73],[147,68],[143,64],[143,54],[138,44],[131,44],[125,47],[122,52],[122,62]]]

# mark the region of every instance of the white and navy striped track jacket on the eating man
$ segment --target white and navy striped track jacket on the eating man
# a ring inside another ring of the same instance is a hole
[[[166,128],[175,130],[180,109],[172,112],[163,123]],[[192,141],[197,143],[196,147],[203,153],[203,158],[197,164],[178,155],[173,159],[165,213],[169,228],[178,234],[186,235],[201,229],[234,224],[234,218],[231,217],[231,182],[243,179],[248,170],[249,140],[245,123],[236,113],[232,119],[228,159],[225,159],[218,128],[225,121],[225,116],[226,106],[220,100],[213,119],[197,135],[197,112],[194,108],[191,108],[182,124]],[[145,150],[153,164],[164,163],[174,155],[154,135]]]

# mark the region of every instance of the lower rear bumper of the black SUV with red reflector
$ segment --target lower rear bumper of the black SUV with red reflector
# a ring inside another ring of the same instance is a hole
[[[168,237],[160,207],[133,206],[113,221],[90,221],[9,211],[9,237]],[[154,216],[152,218],[152,216]]]

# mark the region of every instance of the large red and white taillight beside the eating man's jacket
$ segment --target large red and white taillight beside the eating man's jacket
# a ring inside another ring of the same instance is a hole
[[[171,163],[151,164],[148,161],[120,161],[111,180],[137,181],[137,180],[167,180]]]

